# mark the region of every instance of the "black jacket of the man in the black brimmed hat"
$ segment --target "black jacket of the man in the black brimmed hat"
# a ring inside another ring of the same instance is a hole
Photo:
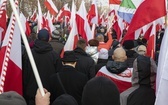
[[[58,80],[58,75],[63,84],[63,88]],[[73,96],[79,105],[81,105],[81,98],[83,88],[88,81],[88,78],[83,73],[78,72],[75,68],[71,66],[64,66],[63,70],[54,74],[50,77],[50,93],[51,93],[51,103],[62,94],[69,94]]]

